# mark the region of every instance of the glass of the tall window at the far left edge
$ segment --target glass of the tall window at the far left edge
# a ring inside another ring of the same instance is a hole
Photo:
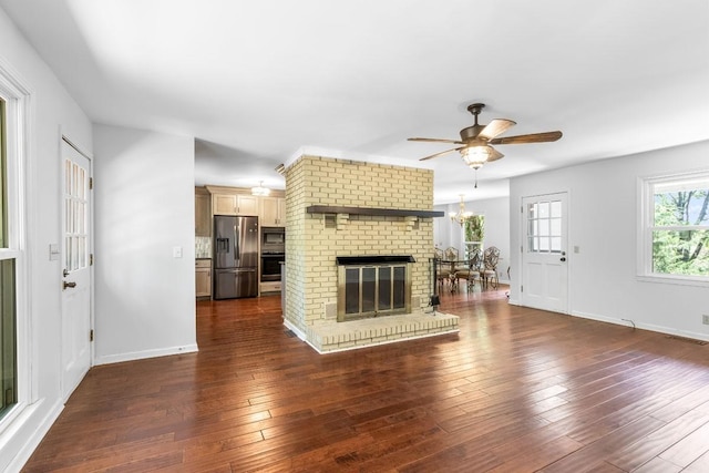
[[[8,219],[6,101],[0,96],[0,418],[17,403],[16,259]]]

